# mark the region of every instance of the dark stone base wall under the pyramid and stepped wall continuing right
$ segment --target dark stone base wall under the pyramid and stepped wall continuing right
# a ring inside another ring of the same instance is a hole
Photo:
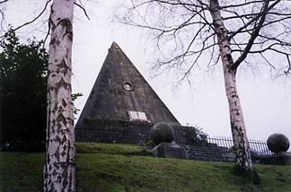
[[[145,145],[149,141],[151,127],[154,124],[145,121],[124,121],[111,119],[88,119],[82,128],[75,129],[77,142],[105,144]],[[209,146],[186,145],[189,142],[188,131],[193,127],[174,128],[175,142],[185,147],[190,160],[234,161],[234,153],[229,148],[216,144]]]

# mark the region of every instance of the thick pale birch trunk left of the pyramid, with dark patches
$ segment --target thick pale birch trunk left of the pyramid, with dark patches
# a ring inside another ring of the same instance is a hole
[[[49,16],[47,153],[44,191],[75,191],[71,98],[74,0],[53,0]]]

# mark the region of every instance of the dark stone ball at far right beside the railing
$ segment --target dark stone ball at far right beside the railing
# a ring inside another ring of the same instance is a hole
[[[267,145],[272,153],[280,153],[287,152],[290,143],[286,135],[273,134],[269,136]]]

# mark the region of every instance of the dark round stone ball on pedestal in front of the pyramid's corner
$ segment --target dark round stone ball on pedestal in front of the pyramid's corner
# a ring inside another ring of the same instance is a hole
[[[172,143],[174,140],[174,131],[172,126],[167,123],[156,123],[151,129],[151,139],[154,144]]]

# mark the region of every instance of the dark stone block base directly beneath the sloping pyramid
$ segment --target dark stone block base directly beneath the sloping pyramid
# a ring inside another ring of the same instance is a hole
[[[83,127],[75,128],[77,142],[105,144],[139,144],[149,141],[149,134],[154,124],[146,121],[124,121],[112,119],[86,119]],[[172,126],[175,142],[187,144],[187,132],[194,127]]]

